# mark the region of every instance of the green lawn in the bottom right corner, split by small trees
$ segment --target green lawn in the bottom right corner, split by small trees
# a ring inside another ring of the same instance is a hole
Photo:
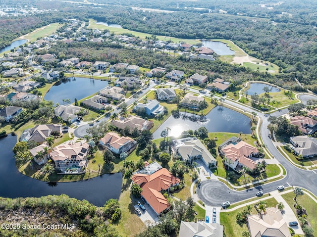
[[[285,199],[285,201],[290,205],[292,208],[293,212],[296,213],[296,209],[294,207],[295,201],[293,198],[295,197],[293,192],[285,193],[282,195],[282,197]],[[302,196],[298,196],[297,198],[297,203],[301,204],[307,211],[307,220],[310,224],[310,226],[314,230],[314,236],[317,233],[317,203],[310,198],[307,194],[304,194]]]

